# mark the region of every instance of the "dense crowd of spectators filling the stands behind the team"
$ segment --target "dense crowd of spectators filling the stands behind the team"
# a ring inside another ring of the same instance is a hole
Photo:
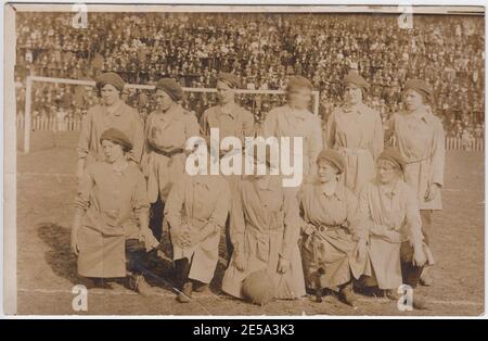
[[[74,13],[18,13],[17,112],[27,75],[93,79],[113,71],[131,84],[175,77],[182,86],[215,86],[219,71],[237,74],[247,89],[281,89],[290,75],[308,77],[325,118],[341,103],[345,74],[356,68],[371,84],[367,102],[383,119],[401,109],[408,78],[435,90],[434,112],[449,136],[484,134],[484,17],[415,15],[401,28],[398,14],[88,13],[87,28]],[[153,109],[147,91],[128,91],[142,115]],[[39,83],[33,113],[78,117],[98,101],[84,86]],[[242,96],[262,119],[277,96]],[[184,105],[201,114],[215,96],[191,92]]]

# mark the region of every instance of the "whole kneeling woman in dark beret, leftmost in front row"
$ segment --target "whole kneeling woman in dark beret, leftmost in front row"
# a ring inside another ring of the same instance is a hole
[[[72,230],[78,274],[89,283],[128,275],[131,289],[149,294],[144,260],[158,242],[147,226],[145,180],[128,161],[132,143],[124,132],[107,129],[100,143],[106,160],[87,166],[78,185]]]

